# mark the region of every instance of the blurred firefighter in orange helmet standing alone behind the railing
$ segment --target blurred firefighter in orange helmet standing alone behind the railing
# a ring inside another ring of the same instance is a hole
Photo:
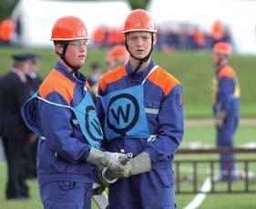
[[[231,47],[227,43],[218,43],[213,47],[213,62],[216,76],[213,79],[213,114],[217,131],[218,147],[233,147],[233,134],[240,116],[240,87],[227,58]],[[234,154],[220,154],[220,180],[227,181],[230,170],[231,180],[236,180]]]

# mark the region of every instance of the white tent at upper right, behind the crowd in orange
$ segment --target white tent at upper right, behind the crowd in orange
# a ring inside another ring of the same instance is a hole
[[[207,31],[216,20],[228,26],[235,51],[256,54],[256,1],[151,0],[148,12],[157,25],[188,23]]]

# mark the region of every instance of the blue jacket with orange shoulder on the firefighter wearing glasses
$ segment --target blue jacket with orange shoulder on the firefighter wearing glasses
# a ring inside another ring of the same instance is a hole
[[[38,95],[58,105],[36,99],[36,111],[31,112],[41,139],[37,151],[37,174],[39,181],[95,181],[95,166],[86,163],[90,150],[73,111],[62,105],[74,107],[79,104],[88,87],[86,77],[77,72],[76,78],[67,69],[56,64],[46,76]],[[32,103],[32,102],[31,102]],[[33,108],[32,108],[33,109]]]

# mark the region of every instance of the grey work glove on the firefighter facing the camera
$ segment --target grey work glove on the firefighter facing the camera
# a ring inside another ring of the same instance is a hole
[[[149,154],[143,152],[128,161],[127,164],[120,164],[119,167],[109,166],[108,170],[108,174],[112,174],[116,178],[127,178],[134,174],[144,174],[151,170]]]

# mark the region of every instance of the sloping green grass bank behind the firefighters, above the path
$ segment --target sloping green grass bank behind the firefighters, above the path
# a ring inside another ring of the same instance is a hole
[[[5,74],[11,67],[11,55],[20,52],[35,52],[41,55],[40,75],[45,77],[56,63],[56,55],[53,49],[24,49],[24,48],[0,48],[0,75]],[[92,62],[99,62],[105,68],[104,57],[106,51],[88,50],[87,63],[81,72],[88,73]],[[211,79],[214,75],[214,67],[211,63],[210,52],[180,52],[165,54],[154,52],[154,60],[157,64],[169,70],[175,75],[184,88],[185,115],[187,118],[206,118],[211,116]],[[233,66],[241,83],[241,116],[256,117],[256,56],[233,55],[230,57],[230,65]]]

